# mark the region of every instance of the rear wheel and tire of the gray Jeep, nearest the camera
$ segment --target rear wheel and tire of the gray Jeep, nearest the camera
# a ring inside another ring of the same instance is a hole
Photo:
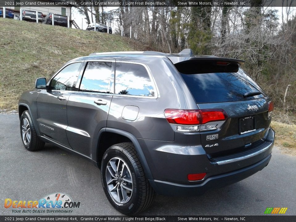
[[[120,169],[115,167],[116,164]],[[106,150],[101,163],[101,180],[107,199],[122,214],[131,215],[147,209],[156,195],[130,142],[115,144]]]

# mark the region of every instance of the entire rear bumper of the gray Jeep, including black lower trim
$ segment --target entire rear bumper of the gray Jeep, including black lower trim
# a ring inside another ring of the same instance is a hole
[[[189,135],[182,141],[187,146],[175,142],[138,141],[151,170],[152,178],[148,179],[155,191],[163,195],[198,195],[262,170],[271,158],[274,136],[273,129],[268,128],[258,146],[221,158],[211,158],[201,145],[193,145],[198,142]],[[188,181],[188,174],[197,173],[206,173],[206,176],[203,180]]]

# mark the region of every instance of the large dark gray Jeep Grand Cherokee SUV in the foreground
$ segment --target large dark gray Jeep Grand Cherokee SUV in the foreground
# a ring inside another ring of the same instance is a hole
[[[267,166],[274,142],[273,102],[243,63],[190,49],[71,60],[20,97],[23,145],[50,142],[92,161],[123,214],[148,208],[155,193],[235,183]]]

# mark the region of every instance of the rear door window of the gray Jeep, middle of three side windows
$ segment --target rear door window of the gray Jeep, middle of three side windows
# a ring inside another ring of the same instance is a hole
[[[110,93],[112,62],[88,62],[79,91]]]

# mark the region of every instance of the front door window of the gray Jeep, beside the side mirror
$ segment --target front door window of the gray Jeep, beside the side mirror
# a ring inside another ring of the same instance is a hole
[[[63,68],[52,80],[50,89],[74,91],[81,62],[72,63]]]

